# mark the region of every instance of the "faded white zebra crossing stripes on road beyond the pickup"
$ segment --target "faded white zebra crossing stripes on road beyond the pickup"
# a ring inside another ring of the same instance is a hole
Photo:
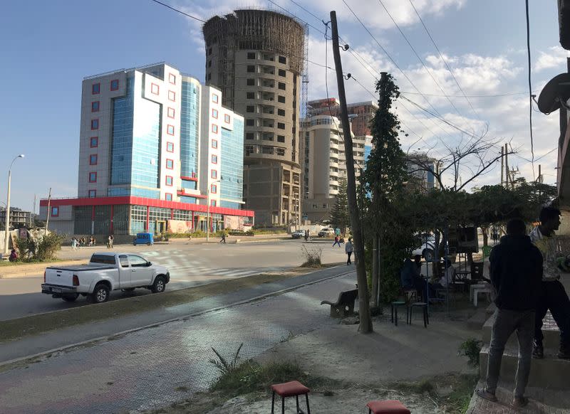
[[[217,267],[217,263],[206,258],[192,257],[187,250],[146,251],[140,252],[157,265],[165,266],[175,282],[193,282],[190,277],[245,277],[259,273],[277,272],[289,267]]]

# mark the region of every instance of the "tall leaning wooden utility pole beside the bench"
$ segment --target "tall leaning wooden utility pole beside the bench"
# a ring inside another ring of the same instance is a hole
[[[343,65],[341,51],[338,46],[338,27],[336,26],[336,11],[331,11],[331,29],[333,40],[334,65],[336,69],[336,83],[338,84],[338,100],[341,101],[341,120],[343,124],[344,154],[346,156],[346,178],[348,212],[351,216],[351,228],[354,237],[354,255],[356,259],[356,278],[358,281],[358,315],[360,325],[358,330],[363,334],[373,331],[370,306],[368,304],[368,281],[366,280],[366,267],[364,265],[364,239],[362,236],[361,218],[356,203],[356,177],[354,174],[354,156],[352,148],[351,123],[348,120],[346,109],[346,93],[344,90]]]

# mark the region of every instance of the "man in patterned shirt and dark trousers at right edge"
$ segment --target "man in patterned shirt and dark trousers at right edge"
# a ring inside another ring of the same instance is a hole
[[[540,225],[530,233],[532,243],[539,248],[544,259],[542,274],[542,294],[537,304],[537,319],[534,323],[534,349],[532,356],[544,358],[542,340],[542,319],[546,311],[550,313],[560,329],[560,351],[558,357],[570,359],[570,300],[560,282],[561,270],[556,261],[556,239],[554,231],[560,226],[560,210],[544,207],[540,211]]]

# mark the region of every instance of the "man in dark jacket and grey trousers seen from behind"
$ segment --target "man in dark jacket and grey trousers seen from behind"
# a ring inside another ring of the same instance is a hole
[[[497,291],[494,323],[487,363],[487,386],[477,394],[496,401],[495,390],[504,346],[509,336],[517,331],[519,365],[514,383],[512,405],[524,407],[528,399],[524,389],[529,381],[534,338],[534,311],[540,297],[542,255],[525,235],[524,221],[514,218],[507,223],[507,235],[501,238],[489,258],[490,277]]]

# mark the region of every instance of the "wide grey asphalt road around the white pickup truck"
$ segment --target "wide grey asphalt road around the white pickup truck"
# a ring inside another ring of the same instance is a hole
[[[132,246],[118,245],[115,251],[139,253],[152,262],[165,265],[170,270],[167,290],[183,289],[221,280],[233,279],[264,272],[296,267],[304,262],[301,254],[302,240],[273,240],[258,243],[197,244],[177,241],[170,245]],[[309,248],[322,248],[323,263],[346,260],[344,248],[332,248],[331,243],[316,240]],[[73,251],[63,248],[60,258],[88,258],[100,247],[82,248]],[[43,274],[37,277],[0,279],[0,320],[14,319],[27,315],[69,309],[87,304],[86,298],[76,302],[63,302],[41,293]],[[137,289],[133,295],[150,294],[150,290]],[[120,291],[111,292],[110,300],[125,297]]]

